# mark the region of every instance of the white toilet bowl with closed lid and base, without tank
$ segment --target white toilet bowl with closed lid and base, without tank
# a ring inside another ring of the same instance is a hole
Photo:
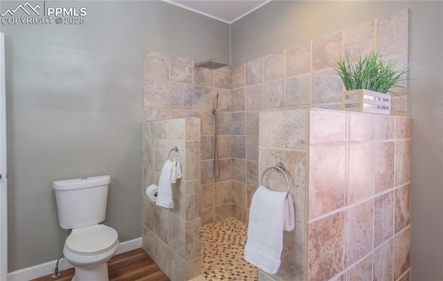
[[[63,248],[64,257],[75,266],[73,280],[108,280],[107,262],[118,244],[117,231],[104,224],[73,229]]]

